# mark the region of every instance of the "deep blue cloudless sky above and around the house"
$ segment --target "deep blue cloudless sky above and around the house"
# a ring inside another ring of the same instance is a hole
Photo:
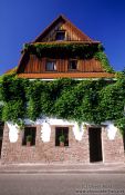
[[[125,0],[0,0],[0,75],[61,13],[103,43],[116,71],[125,68]]]

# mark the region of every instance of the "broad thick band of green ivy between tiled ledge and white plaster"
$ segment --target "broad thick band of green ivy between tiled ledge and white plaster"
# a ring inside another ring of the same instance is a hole
[[[125,78],[53,81],[4,76],[0,80],[0,120],[21,123],[42,116],[101,124],[113,120],[125,131]]]

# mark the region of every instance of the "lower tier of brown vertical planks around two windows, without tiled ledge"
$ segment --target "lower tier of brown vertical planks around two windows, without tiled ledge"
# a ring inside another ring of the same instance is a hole
[[[54,74],[64,74],[69,72],[69,60],[70,59],[50,59],[50,58],[42,58],[39,59],[35,55],[25,55],[23,58],[22,66],[20,68],[20,72],[23,74],[44,74],[49,75],[50,72],[53,74],[52,71],[46,71],[45,70],[45,64],[48,60],[54,60],[56,61],[56,71]],[[72,74],[76,72],[104,72],[104,69],[102,68],[102,65],[98,60],[96,59],[79,59],[77,60],[77,69],[72,71]]]

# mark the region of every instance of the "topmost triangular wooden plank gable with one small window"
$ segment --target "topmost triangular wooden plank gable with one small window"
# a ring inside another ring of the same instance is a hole
[[[77,29],[71,21],[64,16],[60,16],[55,19],[35,40],[34,42],[48,42],[56,41],[56,33],[64,32],[65,41],[85,41],[93,42],[93,40]]]

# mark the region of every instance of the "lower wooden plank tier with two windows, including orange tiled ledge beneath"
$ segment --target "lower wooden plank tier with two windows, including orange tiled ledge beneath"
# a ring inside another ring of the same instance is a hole
[[[69,71],[69,59],[54,59],[56,71],[46,71],[45,64],[49,59],[39,59],[35,55],[24,55],[18,70],[18,77],[29,79],[58,79],[58,78],[113,78],[114,74],[105,72],[96,59],[79,59],[77,70]],[[53,60],[53,59],[51,59]]]

